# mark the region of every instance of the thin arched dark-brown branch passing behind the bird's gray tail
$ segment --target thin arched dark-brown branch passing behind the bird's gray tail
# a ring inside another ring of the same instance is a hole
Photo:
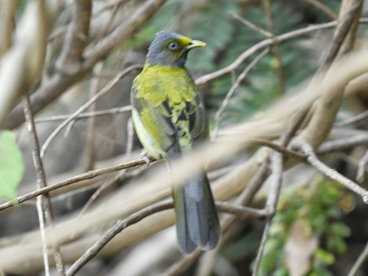
[[[173,199],[166,199],[164,201],[156,202],[155,204],[149,205],[148,207],[139,210],[138,212],[130,215],[124,220],[118,220],[118,222],[106,231],[103,236],[101,236],[88,250],[68,269],[66,275],[73,276],[78,272],[89,260],[98,254],[98,252],[115,237],[122,230],[128,226],[139,222],[145,217],[152,215],[154,213],[171,209],[174,207]],[[261,210],[256,210],[254,208],[245,208],[243,206],[237,206],[234,204],[229,204],[227,202],[216,202],[216,207],[219,212],[228,212],[233,215],[239,216],[240,218],[252,217],[252,218],[262,218],[265,216]]]

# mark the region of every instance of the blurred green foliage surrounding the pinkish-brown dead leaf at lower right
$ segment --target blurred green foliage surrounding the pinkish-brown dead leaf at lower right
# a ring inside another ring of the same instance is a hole
[[[346,251],[344,237],[350,235],[350,229],[344,223],[336,221],[342,214],[338,206],[343,198],[342,187],[330,180],[304,188],[285,189],[270,226],[258,274],[289,275],[284,248],[290,237],[291,227],[297,221],[302,221],[306,235],[318,237],[320,242],[326,241],[326,248],[322,248],[320,244],[312,254],[311,270],[307,275],[330,275],[324,266],[335,262],[333,254]]]

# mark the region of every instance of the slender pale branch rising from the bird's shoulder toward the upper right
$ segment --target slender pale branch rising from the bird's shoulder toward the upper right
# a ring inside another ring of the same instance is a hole
[[[360,23],[368,23],[368,19],[367,18],[361,18],[359,22]],[[265,47],[272,46],[276,43],[279,44],[279,43],[282,43],[286,40],[297,38],[299,36],[308,35],[309,33],[312,33],[312,32],[318,31],[318,30],[330,29],[330,28],[335,27],[336,25],[337,25],[337,21],[332,21],[332,22],[318,24],[318,25],[312,25],[312,26],[308,26],[306,28],[298,29],[298,30],[295,30],[295,31],[284,33],[284,34],[279,35],[279,36],[275,36],[274,38],[268,38],[268,39],[262,40],[261,42],[253,45],[248,50],[243,52],[230,65],[228,65],[228,66],[226,66],[226,67],[224,67],[220,70],[217,70],[215,72],[212,72],[212,73],[209,73],[209,74],[206,74],[202,77],[197,78],[195,80],[195,83],[197,85],[205,84],[206,82],[209,82],[209,81],[211,81],[215,78],[221,77],[222,75],[229,74],[231,71],[238,68],[246,59],[248,59],[248,57],[252,56],[252,54],[256,53],[257,51],[259,51],[259,50],[261,50]]]

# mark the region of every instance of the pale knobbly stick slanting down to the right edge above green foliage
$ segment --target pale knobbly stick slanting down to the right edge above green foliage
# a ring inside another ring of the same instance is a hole
[[[325,163],[319,160],[314,152],[313,147],[309,143],[299,138],[296,138],[293,141],[291,141],[291,147],[293,149],[301,150],[306,155],[309,164],[316,167],[316,169],[321,171],[321,173],[323,173],[325,176],[343,184],[349,190],[360,195],[364,203],[368,204],[368,191],[359,186],[354,181],[351,181],[347,177],[338,173],[336,170],[331,169],[329,166],[327,166]]]

